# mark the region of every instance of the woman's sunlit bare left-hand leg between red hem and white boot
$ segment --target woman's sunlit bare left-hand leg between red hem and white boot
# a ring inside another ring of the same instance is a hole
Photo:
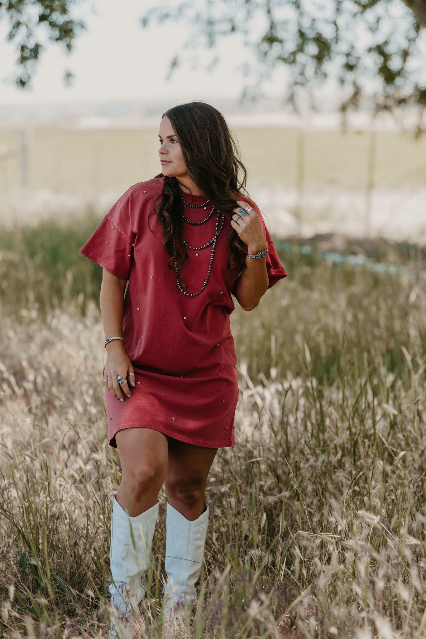
[[[151,428],[126,428],[116,434],[123,476],[116,500],[130,517],[155,505],[167,473],[167,437]]]

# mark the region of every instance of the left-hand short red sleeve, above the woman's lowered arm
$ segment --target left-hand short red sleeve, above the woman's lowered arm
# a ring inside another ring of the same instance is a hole
[[[130,219],[130,194],[119,197],[80,253],[121,279],[128,280],[132,266],[133,232]]]

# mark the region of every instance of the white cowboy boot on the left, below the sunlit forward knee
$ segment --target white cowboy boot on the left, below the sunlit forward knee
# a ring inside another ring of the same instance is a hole
[[[113,495],[114,493],[111,493]],[[118,611],[118,622],[111,622],[109,639],[127,639],[132,636],[126,629],[132,608],[137,609],[146,588],[142,574],[151,563],[151,545],[158,515],[158,503],[129,517],[114,497],[112,500],[109,587],[111,605]]]

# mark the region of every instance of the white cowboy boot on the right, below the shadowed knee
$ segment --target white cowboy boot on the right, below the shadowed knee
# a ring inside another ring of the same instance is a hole
[[[168,620],[189,619],[192,601],[197,597],[195,583],[201,573],[212,509],[213,502],[209,501],[199,518],[190,521],[167,502],[164,564],[167,583],[163,593],[167,596],[165,615]]]

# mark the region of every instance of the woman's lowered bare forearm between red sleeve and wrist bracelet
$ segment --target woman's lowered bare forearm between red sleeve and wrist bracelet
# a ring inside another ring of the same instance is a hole
[[[100,289],[100,311],[102,315],[103,331],[106,337],[123,337],[123,311],[126,280],[120,279],[103,269]],[[110,348],[123,348],[119,339],[107,344]]]

